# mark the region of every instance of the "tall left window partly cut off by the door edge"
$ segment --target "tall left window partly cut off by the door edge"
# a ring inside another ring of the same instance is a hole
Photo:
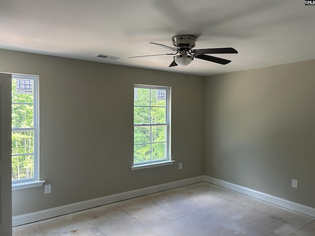
[[[12,74],[12,185],[38,180],[38,78]]]

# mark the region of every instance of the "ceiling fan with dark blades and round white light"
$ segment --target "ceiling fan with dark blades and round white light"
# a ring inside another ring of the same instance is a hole
[[[174,51],[175,53],[146,55],[146,56],[137,56],[137,57],[129,57],[129,58],[152,57],[152,56],[160,56],[160,55],[175,55],[169,67],[176,66],[176,65],[182,65],[182,66],[189,65],[190,62],[194,58],[208,60],[208,61],[225,65],[231,62],[231,60],[217,58],[217,57],[213,57],[213,56],[209,56],[205,54],[238,53],[234,48],[192,49],[195,46],[196,40],[197,40],[196,36],[188,35],[188,34],[173,36],[172,37],[173,47],[169,47],[169,46],[159,44],[159,43],[152,43],[152,44],[170,49]]]

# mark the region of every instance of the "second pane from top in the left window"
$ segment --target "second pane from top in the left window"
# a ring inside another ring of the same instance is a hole
[[[12,104],[12,128],[34,127],[34,106]]]

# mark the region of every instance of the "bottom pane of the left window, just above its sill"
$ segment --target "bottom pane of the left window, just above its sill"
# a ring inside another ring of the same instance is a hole
[[[34,155],[12,156],[12,180],[34,177]]]

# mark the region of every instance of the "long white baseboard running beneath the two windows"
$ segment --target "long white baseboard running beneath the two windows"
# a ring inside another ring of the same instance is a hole
[[[123,192],[119,194],[113,194],[101,198],[91,199],[88,201],[83,201],[79,203],[69,204],[61,207],[54,207],[46,210],[36,211],[28,214],[17,215],[12,217],[12,226],[24,225],[32,223],[39,220],[44,220],[64,214],[69,214],[79,210],[85,210],[93,207],[99,207],[102,205],[115,203],[130,198],[136,198],[143,195],[157,193],[164,190],[169,190],[172,188],[182,187],[185,185],[198,183],[204,181],[204,176],[192,177],[187,179],[182,179],[174,182],[159,184],[147,188],[136,189],[128,192]]]

